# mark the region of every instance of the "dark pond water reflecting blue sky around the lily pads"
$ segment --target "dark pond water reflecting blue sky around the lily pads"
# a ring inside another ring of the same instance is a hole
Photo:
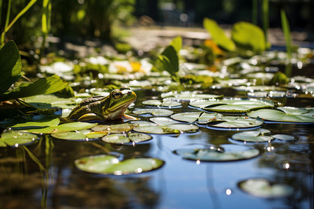
[[[221,89],[216,93],[227,92]],[[140,107],[151,93],[139,91],[137,95],[136,105]],[[281,100],[287,106],[313,104],[313,99]],[[195,109],[189,109],[187,104],[174,109],[186,110]],[[292,134],[298,140],[253,144],[262,154],[250,160],[199,163],[184,160],[173,151],[190,144],[234,144],[230,137],[236,131],[201,127],[194,134],[153,134],[151,141],[136,146],[45,136],[27,149],[49,168],[47,172],[40,170],[25,148],[1,148],[0,208],[313,208],[314,126],[266,123],[262,127],[272,134]],[[125,158],[158,157],[165,165],[130,176],[97,176],[78,171],[73,164],[78,157],[104,154],[107,150]],[[287,183],[295,192],[284,198],[255,197],[238,187],[248,178]]]

